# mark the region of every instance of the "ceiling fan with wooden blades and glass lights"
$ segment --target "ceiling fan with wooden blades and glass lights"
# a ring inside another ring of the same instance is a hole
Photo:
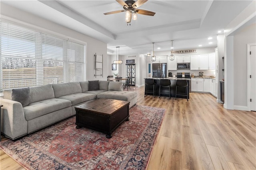
[[[112,12],[107,12],[104,14],[108,15],[108,14],[116,14],[116,13],[120,13],[120,12],[126,12],[125,13],[125,21],[126,21],[127,25],[128,25],[128,23],[131,22],[132,19],[137,20],[137,14],[142,14],[142,15],[146,15],[146,16],[154,16],[156,14],[155,12],[137,9],[138,7],[140,7],[144,3],[146,3],[148,0],[137,0],[136,2],[134,0],[126,0],[125,2],[122,0],[116,0],[116,1],[123,6],[124,10],[112,11]]]

